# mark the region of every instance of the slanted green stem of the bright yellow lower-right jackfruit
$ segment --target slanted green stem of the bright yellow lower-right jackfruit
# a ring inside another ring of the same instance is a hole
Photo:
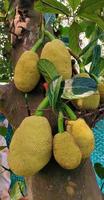
[[[71,120],[76,120],[77,119],[77,116],[76,114],[72,111],[72,109],[66,105],[65,103],[63,103],[63,109],[64,111],[67,113],[68,117],[71,119]]]

